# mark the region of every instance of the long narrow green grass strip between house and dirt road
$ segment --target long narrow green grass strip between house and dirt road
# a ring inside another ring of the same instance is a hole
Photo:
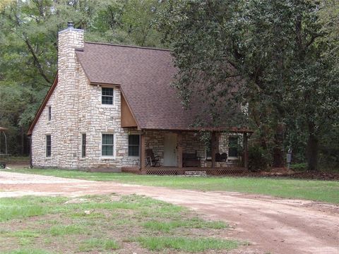
[[[144,176],[124,173],[91,173],[60,169],[10,169],[25,174],[43,174],[92,181],[117,181],[145,186],[163,186],[200,191],[239,191],[281,198],[299,198],[339,203],[339,181],[270,179],[252,177]]]

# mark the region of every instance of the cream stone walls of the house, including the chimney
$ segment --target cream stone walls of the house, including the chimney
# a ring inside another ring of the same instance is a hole
[[[90,84],[77,57],[83,48],[83,30],[59,32],[58,84],[32,131],[33,167],[61,169],[110,169],[135,167],[139,157],[129,157],[129,135],[140,134],[121,128],[121,92],[114,88],[113,105],[102,104],[102,86]],[[48,121],[48,107],[52,119]],[[86,134],[86,155],[82,157],[82,134]],[[102,156],[102,134],[114,134],[114,156]],[[164,137],[169,131],[145,131],[145,147],[164,157]],[[46,135],[51,135],[51,157],[46,157]],[[219,150],[227,152],[227,136],[220,135]],[[206,145],[198,133],[182,133],[183,152],[197,152],[206,158]],[[163,161],[162,161],[163,162]]]

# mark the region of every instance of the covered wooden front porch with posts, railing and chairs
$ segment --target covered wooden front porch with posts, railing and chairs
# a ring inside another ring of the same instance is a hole
[[[247,171],[251,131],[208,132],[210,140],[206,142],[201,140],[198,130],[142,130],[138,164],[121,167],[121,171],[156,175],[225,175]],[[239,145],[237,150],[230,147],[234,140]]]

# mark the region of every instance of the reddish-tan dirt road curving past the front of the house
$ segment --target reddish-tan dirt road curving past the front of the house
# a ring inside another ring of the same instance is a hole
[[[0,171],[0,198],[22,195],[119,193],[147,195],[228,222],[227,237],[251,243],[254,253],[339,253],[339,206],[221,191],[187,191],[114,182],[62,179]],[[1,203],[1,201],[0,201]]]

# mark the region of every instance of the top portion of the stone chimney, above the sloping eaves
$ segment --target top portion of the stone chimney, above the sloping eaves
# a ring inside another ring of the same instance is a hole
[[[58,75],[59,80],[75,73],[76,49],[83,49],[83,30],[74,28],[73,22],[67,23],[68,27],[59,32],[58,40]],[[66,75],[66,76],[65,76]]]

